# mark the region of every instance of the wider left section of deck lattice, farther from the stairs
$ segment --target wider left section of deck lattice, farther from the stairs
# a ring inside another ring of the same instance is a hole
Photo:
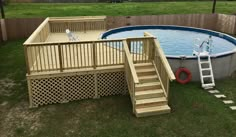
[[[32,79],[30,81],[32,107],[95,96],[94,74]]]

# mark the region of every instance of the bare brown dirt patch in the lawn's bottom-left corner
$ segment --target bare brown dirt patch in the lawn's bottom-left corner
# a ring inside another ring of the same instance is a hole
[[[32,111],[27,102],[17,104],[5,112],[0,124],[1,137],[33,136],[42,127],[40,111]]]

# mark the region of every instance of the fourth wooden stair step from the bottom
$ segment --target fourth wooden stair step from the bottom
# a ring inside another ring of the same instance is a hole
[[[161,88],[160,82],[149,82],[136,85],[135,90],[144,91],[144,90],[160,89],[160,88]]]

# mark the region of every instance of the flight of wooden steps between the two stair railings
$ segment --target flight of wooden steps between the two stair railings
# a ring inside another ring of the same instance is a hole
[[[135,64],[139,84],[135,85],[134,110],[137,117],[170,113],[167,98],[154,65]]]

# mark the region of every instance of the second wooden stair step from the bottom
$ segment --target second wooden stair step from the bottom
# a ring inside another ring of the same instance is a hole
[[[161,106],[161,105],[167,105],[167,100],[165,97],[136,100],[136,108]]]

